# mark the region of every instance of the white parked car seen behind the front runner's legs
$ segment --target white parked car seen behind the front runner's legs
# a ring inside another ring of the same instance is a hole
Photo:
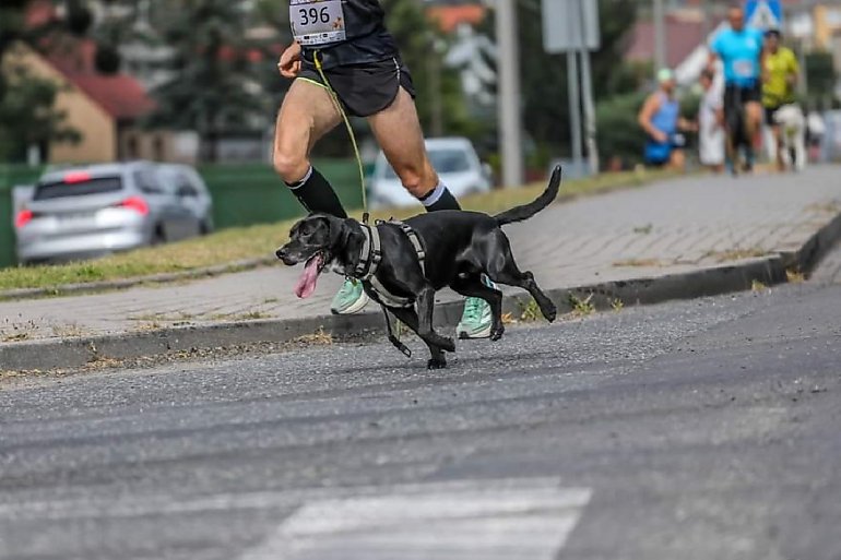
[[[458,199],[491,188],[490,167],[479,162],[476,150],[465,138],[434,138],[426,140],[433,167]],[[377,156],[370,179],[371,207],[413,206],[419,204],[401,184],[382,152]]]

